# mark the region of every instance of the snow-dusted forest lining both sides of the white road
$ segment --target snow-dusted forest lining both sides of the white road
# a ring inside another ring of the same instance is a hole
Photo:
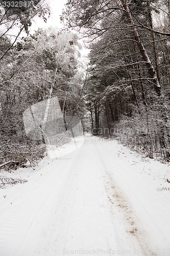
[[[68,1],[61,14],[64,30],[40,28],[34,34],[32,19],[50,15],[45,2],[4,3],[1,165],[43,157],[43,138],[26,136],[22,116],[30,105],[55,96],[63,115],[79,116],[84,131],[169,160],[169,1]],[[22,31],[28,35],[21,37]],[[80,37],[90,49],[84,72]]]

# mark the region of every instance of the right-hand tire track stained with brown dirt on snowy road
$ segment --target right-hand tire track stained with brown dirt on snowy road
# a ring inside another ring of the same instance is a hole
[[[146,255],[146,256],[157,255],[155,252],[153,252],[150,249],[148,245],[149,241],[146,241],[146,237],[148,237],[148,235],[145,233],[144,229],[142,228],[139,219],[135,216],[133,208],[128,202],[125,194],[118,187],[117,183],[114,181],[113,177],[109,172],[109,170],[115,169],[115,167],[113,166],[114,159],[110,161],[110,159],[107,156],[107,152],[102,150],[102,148],[100,147],[100,143],[96,144],[96,150],[99,153],[101,164],[103,166],[102,169],[103,169],[104,180],[105,180],[105,188],[106,188],[106,193],[108,195],[108,201],[110,202],[110,208],[111,208],[112,214],[116,215],[118,219],[119,218],[124,219],[125,226],[127,226],[127,229],[128,229],[126,230],[126,232],[130,233],[130,235],[128,234],[128,237],[129,237],[128,240],[132,244],[132,246],[134,246],[134,251],[140,248],[140,255]],[[119,212],[121,212],[122,217],[120,217],[120,214],[117,213],[117,209]]]

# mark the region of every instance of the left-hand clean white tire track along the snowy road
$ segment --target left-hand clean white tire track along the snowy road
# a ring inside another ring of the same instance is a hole
[[[67,240],[67,233],[68,233],[68,228],[69,228],[69,223],[71,218],[71,212],[72,212],[72,207],[74,205],[75,190],[78,182],[79,172],[81,169],[81,165],[80,165],[81,162],[77,164],[76,159],[77,157],[81,158],[82,156],[81,151],[82,151],[82,148],[80,148],[77,151],[77,156],[74,159],[74,161],[71,163],[71,165],[65,166],[66,176],[65,176],[64,183],[62,183],[60,186],[60,189],[56,190],[52,188],[52,194],[51,194],[52,196],[56,191],[56,201],[53,200],[56,215],[54,219],[52,219],[51,226],[50,227],[46,226],[46,228],[48,228],[50,232],[50,234],[49,232],[47,232],[45,235],[46,244],[42,245],[41,250],[38,251],[38,249],[36,249],[36,251],[33,251],[31,255],[39,254],[39,255],[46,256],[48,254],[48,255],[56,256],[58,255],[58,252],[60,253],[60,255],[62,255],[61,251],[62,251],[62,248],[64,248]],[[62,162],[62,159],[64,159],[64,157],[59,158],[58,161]],[[63,163],[62,163],[62,167],[63,167]],[[57,175],[55,176],[55,178],[58,179]],[[51,195],[49,195],[49,197]],[[48,202],[49,197],[46,198],[45,201]],[[44,207],[44,203],[42,207]],[[49,212],[49,215],[47,215],[47,218],[50,218],[50,212]],[[37,220],[35,219],[34,220],[35,226],[36,226],[36,222]],[[53,232],[50,231],[52,226],[53,226]],[[29,238],[30,242],[32,240],[31,238],[32,232],[34,232],[34,227],[30,229],[29,234],[27,236],[27,239]],[[36,248],[36,245],[35,245],[35,248]],[[22,254],[20,253],[17,255],[22,255]]]

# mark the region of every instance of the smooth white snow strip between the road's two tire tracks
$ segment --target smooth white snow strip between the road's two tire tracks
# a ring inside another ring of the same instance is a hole
[[[69,251],[80,248],[88,251],[102,248],[106,251],[117,246],[116,230],[112,227],[110,208],[99,168],[99,156],[93,143],[89,142],[85,141],[83,157],[78,159],[82,161],[82,169],[65,244]]]

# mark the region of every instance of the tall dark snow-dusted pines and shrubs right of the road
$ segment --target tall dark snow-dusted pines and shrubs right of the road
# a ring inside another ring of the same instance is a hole
[[[67,1],[61,19],[89,42],[92,131],[170,159],[170,2]]]

